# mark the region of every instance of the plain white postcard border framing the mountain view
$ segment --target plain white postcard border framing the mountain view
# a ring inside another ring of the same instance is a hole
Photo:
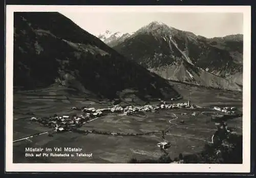
[[[25,164],[13,163],[13,12],[243,13],[243,164]],[[6,7],[6,171],[15,172],[250,172],[250,6],[43,6]]]

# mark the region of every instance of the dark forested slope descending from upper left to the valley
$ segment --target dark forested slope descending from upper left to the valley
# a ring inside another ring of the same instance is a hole
[[[57,12],[14,13],[14,87],[58,84],[99,98],[171,98],[163,78]]]

